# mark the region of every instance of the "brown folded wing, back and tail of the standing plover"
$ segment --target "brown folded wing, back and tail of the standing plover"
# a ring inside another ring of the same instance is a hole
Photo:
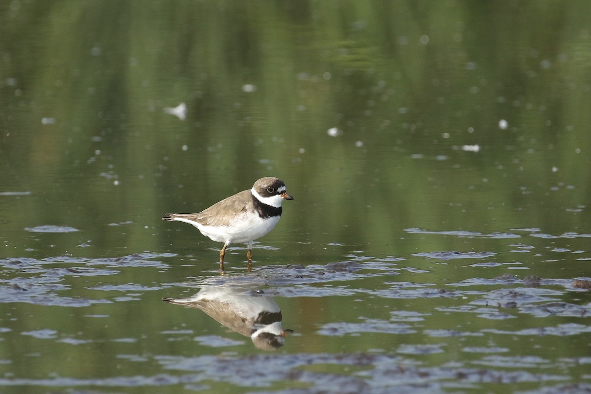
[[[224,198],[199,213],[170,213],[167,215],[170,219],[167,220],[182,217],[204,226],[228,226],[236,216],[248,209],[252,209],[252,194],[250,190],[244,190]]]

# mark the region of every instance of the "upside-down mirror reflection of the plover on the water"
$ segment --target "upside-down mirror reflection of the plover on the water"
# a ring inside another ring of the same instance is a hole
[[[203,286],[188,298],[163,298],[170,304],[198,308],[243,336],[251,337],[262,350],[277,350],[293,330],[281,326],[281,310],[272,297],[262,290],[248,291],[228,286]]]

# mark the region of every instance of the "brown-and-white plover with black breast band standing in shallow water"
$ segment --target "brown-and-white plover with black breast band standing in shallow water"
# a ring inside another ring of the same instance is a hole
[[[220,250],[220,271],[230,243],[248,243],[248,271],[252,269],[252,241],[275,227],[281,217],[283,200],[293,200],[285,183],[279,178],[264,177],[250,190],[224,198],[198,213],[167,213],[163,220],[185,222],[197,227],[206,237],[223,242]]]

